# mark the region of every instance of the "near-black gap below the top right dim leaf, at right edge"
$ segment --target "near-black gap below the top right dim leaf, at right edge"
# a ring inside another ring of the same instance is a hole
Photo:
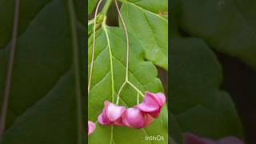
[[[256,72],[238,58],[218,53],[223,67],[224,81],[222,89],[232,96],[241,118],[246,142],[256,142]]]

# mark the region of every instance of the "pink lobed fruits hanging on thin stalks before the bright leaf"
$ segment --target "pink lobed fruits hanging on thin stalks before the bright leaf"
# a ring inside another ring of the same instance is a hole
[[[106,101],[102,114],[98,116],[98,122],[102,125],[128,126],[141,129],[149,126],[154,118],[158,118],[162,106],[166,102],[166,96],[162,93],[146,92],[142,103],[126,108]],[[88,134],[92,134],[95,125],[88,122]]]

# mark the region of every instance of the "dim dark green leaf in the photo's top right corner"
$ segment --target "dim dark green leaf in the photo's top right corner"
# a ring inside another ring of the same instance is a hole
[[[256,70],[256,1],[182,0],[181,27]]]

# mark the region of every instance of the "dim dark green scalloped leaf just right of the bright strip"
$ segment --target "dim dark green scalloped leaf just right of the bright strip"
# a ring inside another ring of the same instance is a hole
[[[178,125],[172,126],[173,131],[213,139],[242,138],[242,125],[230,95],[219,90],[222,67],[206,43],[198,38],[173,39],[171,62],[172,125]],[[181,143],[180,135],[173,138]]]

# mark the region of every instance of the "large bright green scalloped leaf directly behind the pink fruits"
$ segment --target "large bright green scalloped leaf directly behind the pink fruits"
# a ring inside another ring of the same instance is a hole
[[[89,120],[97,121],[98,115],[102,113],[104,101],[111,101],[111,70],[110,54],[107,46],[106,35],[110,38],[110,49],[113,54],[114,66],[114,91],[116,94],[126,76],[126,37],[122,28],[108,27],[98,31],[96,39],[96,49],[94,57],[94,71],[92,86],[89,94]],[[139,90],[152,92],[162,91],[162,84],[157,78],[157,69],[152,62],[144,60],[144,50],[136,38],[130,33],[130,61],[129,61],[129,79]],[[89,59],[91,58],[91,42],[89,43]],[[90,67],[90,66],[88,66]],[[142,98],[140,99],[142,102]],[[137,92],[129,85],[126,85],[121,93],[121,104],[124,106],[135,106],[137,104]],[[102,126],[97,122],[97,129],[94,134],[90,135],[89,142],[110,143],[110,136],[113,134],[113,143],[130,144],[130,143],[167,143],[168,142],[168,114],[166,107],[163,108],[161,116],[154,121],[151,126],[145,129],[135,130],[127,127]],[[165,141],[146,141],[147,135],[162,135]],[[127,139],[129,137],[129,139]]]

